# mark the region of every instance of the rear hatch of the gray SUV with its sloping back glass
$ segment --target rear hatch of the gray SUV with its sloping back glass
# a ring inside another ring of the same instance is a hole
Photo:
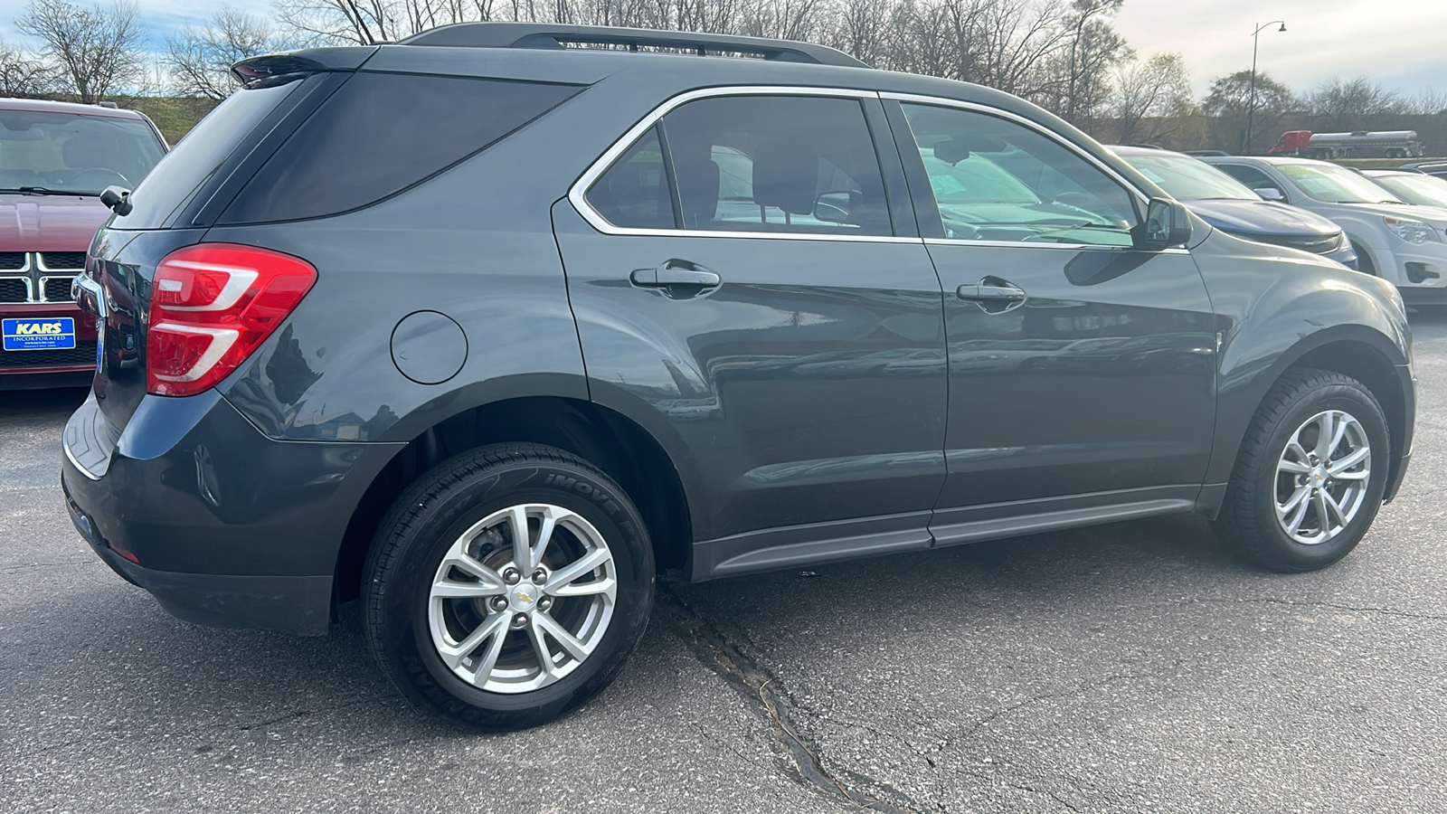
[[[96,235],[77,288],[81,307],[100,323],[94,393],[110,424],[124,427],[148,390],[155,390],[155,371],[148,382],[146,358],[153,295],[171,297],[182,311],[205,310],[190,307],[185,297],[217,303],[230,297],[220,288],[207,294],[207,284],[224,288],[226,274],[207,277],[194,262],[194,268],[182,268],[198,275],[187,280],[184,291],[174,280],[162,281],[158,291],[161,261],[201,242],[278,146],[372,52],[375,48],[328,48],[243,62],[239,68],[247,72],[247,85],[187,133],[129,196],[130,209],[113,216]],[[230,281],[245,282],[234,275]],[[214,335],[226,329],[200,330]],[[171,345],[171,351],[187,352],[184,342]]]

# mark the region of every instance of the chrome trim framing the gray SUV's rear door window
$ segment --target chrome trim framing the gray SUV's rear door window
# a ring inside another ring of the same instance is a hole
[[[605,235],[632,235],[642,238],[760,238],[767,240],[835,240],[845,243],[922,243],[920,238],[906,238],[899,235],[833,235],[829,232],[721,232],[697,229],[637,229],[631,226],[614,226],[587,203],[587,190],[598,178],[614,165],[618,158],[628,151],[650,127],[658,123],[671,110],[696,101],[719,96],[820,96],[839,98],[878,98],[873,90],[831,88],[831,87],[802,87],[802,85],[729,85],[690,90],[666,100],[654,107],[637,125],[628,129],[618,140],[609,146],[603,155],[593,161],[586,171],[567,190],[567,200],[573,209],[583,216],[589,226]],[[878,142],[878,136],[871,133],[871,139]],[[883,174],[883,168],[880,169]]]

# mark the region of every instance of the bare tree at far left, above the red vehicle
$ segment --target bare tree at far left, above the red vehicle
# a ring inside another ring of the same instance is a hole
[[[58,68],[61,90],[84,103],[145,78],[145,35],[133,3],[87,9],[68,0],[30,0],[14,25],[41,39],[42,55]]]

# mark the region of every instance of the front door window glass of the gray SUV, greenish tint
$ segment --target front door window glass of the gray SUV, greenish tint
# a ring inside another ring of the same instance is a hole
[[[946,238],[1133,245],[1130,191],[1055,139],[987,113],[903,107]]]

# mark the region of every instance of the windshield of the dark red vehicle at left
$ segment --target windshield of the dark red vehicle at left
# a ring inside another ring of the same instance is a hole
[[[0,190],[135,188],[161,155],[161,139],[139,119],[0,110]]]

